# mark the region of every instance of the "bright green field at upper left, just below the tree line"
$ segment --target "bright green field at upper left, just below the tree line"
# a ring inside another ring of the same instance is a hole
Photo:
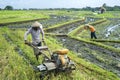
[[[0,24],[48,18],[42,11],[0,11]]]

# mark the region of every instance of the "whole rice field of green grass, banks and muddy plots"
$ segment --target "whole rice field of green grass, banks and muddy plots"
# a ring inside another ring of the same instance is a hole
[[[112,46],[113,42],[119,41],[119,17],[114,16],[119,13],[103,14],[106,20],[102,22],[103,15],[85,11],[0,11],[0,15],[0,23],[4,24],[46,18],[39,22],[43,24],[47,46],[51,51],[68,48],[68,56],[77,67],[72,73],[50,73],[50,80],[120,80],[120,50]],[[91,40],[89,32],[83,30],[86,23],[84,18],[88,19],[87,23],[95,26],[98,41]],[[80,21],[77,22],[78,19]],[[37,61],[33,50],[24,44],[23,39],[26,29],[33,22],[0,26],[0,80],[40,80],[41,73],[35,72],[34,67],[41,64],[42,56]],[[115,25],[118,25],[115,31],[106,38],[106,31]],[[28,36],[28,40],[31,41],[31,36]],[[108,40],[111,42],[106,42]]]

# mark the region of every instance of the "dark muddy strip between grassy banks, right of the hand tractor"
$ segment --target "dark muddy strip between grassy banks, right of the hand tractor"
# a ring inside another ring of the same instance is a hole
[[[102,47],[77,41],[69,37],[56,38],[63,46],[74,51],[79,57],[120,76],[120,55]]]

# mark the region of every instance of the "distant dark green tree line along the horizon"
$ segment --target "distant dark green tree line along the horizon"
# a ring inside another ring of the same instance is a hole
[[[107,6],[106,4],[103,4],[103,7],[107,10],[107,11],[120,11],[120,6]],[[13,6],[7,5],[4,9],[0,8],[0,10],[74,10],[74,11],[98,11],[100,9],[100,7],[84,7],[84,8],[46,8],[46,9],[40,9],[40,8],[23,8],[23,9],[14,9]]]

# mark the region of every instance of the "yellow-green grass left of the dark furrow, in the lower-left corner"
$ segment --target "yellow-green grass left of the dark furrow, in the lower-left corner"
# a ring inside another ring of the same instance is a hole
[[[6,29],[0,29],[0,79],[35,80],[35,73],[30,65],[14,50],[15,46],[2,36],[5,34],[4,30]]]

